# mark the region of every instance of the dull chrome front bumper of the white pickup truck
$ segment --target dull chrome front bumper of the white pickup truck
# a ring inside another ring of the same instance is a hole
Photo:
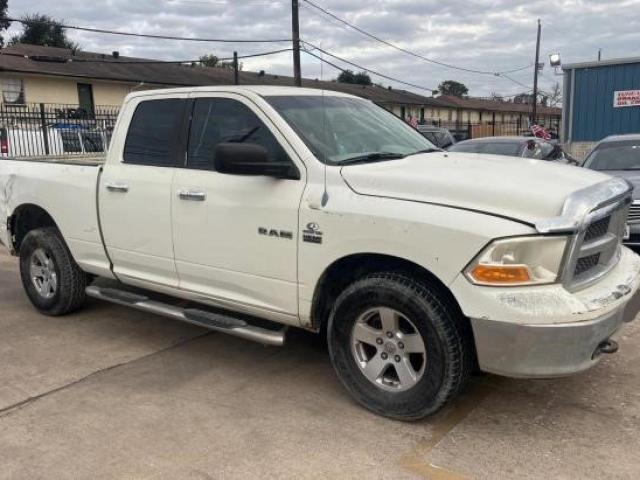
[[[508,377],[559,377],[587,370],[600,346],[640,310],[640,290],[612,312],[584,322],[513,324],[472,319],[480,369]]]

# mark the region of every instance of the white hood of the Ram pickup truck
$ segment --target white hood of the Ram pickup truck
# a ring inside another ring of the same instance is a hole
[[[358,194],[476,210],[534,224],[561,214],[566,198],[610,178],[545,160],[434,152],[344,166]]]

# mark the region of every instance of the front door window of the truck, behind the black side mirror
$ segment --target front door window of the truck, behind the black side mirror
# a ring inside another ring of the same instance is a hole
[[[269,161],[290,161],[267,126],[247,106],[228,98],[196,99],[189,131],[187,166],[213,170],[215,148],[226,142],[261,145],[267,149]]]

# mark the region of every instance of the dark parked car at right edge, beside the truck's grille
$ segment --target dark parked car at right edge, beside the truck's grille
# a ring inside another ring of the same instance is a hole
[[[624,178],[635,187],[625,243],[640,246],[640,134],[613,135],[601,140],[591,150],[583,166]]]

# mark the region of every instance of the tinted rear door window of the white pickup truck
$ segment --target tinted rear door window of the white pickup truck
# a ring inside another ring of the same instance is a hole
[[[169,98],[141,102],[133,113],[124,145],[124,162],[157,167],[176,166],[176,132],[184,100]]]

